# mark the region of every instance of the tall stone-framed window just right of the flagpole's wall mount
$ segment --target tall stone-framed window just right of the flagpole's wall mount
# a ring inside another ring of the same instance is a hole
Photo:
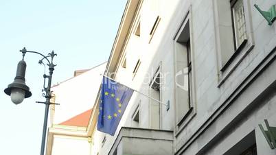
[[[189,18],[175,37],[175,83],[176,83],[176,122],[182,126],[192,118],[192,50],[190,43]]]

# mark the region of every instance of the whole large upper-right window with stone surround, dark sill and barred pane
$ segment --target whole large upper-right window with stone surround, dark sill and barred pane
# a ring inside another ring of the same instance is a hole
[[[214,0],[218,87],[254,47],[249,0]]]

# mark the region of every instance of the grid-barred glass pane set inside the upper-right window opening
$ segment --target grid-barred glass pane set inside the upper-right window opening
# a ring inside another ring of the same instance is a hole
[[[242,42],[247,38],[244,3],[242,0],[232,0],[231,8],[235,34],[235,49],[238,49],[238,47],[242,45]]]

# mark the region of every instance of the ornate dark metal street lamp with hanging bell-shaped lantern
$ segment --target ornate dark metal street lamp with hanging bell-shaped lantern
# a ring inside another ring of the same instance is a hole
[[[10,95],[12,102],[14,104],[21,104],[24,98],[31,97],[32,93],[30,92],[30,88],[25,84],[25,71],[26,71],[26,62],[24,61],[25,53],[37,53],[41,55],[43,58],[39,60],[39,64],[43,63],[43,60],[47,60],[47,66],[49,67],[49,75],[44,74],[44,84],[43,84],[43,97],[46,98],[45,102],[36,102],[39,104],[45,104],[45,116],[44,116],[44,124],[43,124],[43,135],[42,135],[42,142],[41,142],[41,155],[44,155],[45,150],[45,140],[46,140],[46,130],[47,130],[47,119],[49,113],[49,105],[55,104],[51,103],[51,76],[53,75],[54,67],[56,64],[53,64],[54,56],[56,53],[51,51],[48,53],[48,56],[44,56],[43,54],[37,51],[27,51],[25,47],[20,50],[23,54],[23,58],[17,64],[16,76],[14,78],[14,82],[8,85],[8,88],[5,88],[4,92],[7,95]],[[51,58],[51,61],[48,59]],[[45,86],[45,81],[47,79],[47,86]]]

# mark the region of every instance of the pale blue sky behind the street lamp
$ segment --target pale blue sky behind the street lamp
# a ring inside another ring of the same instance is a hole
[[[32,97],[15,105],[3,90],[14,81],[26,47],[58,54],[52,84],[108,60],[126,0],[1,0],[0,1],[0,154],[40,154],[45,106],[41,95],[41,56],[26,53],[26,84]],[[46,73],[48,69],[46,68]]]

